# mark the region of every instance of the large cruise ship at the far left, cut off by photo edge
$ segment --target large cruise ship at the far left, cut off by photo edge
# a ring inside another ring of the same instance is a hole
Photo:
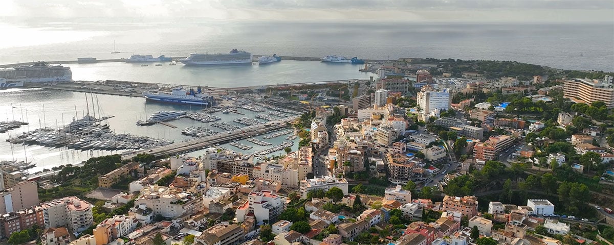
[[[39,61],[29,66],[0,68],[0,78],[4,78],[4,83],[49,83],[72,81],[72,72],[71,67],[51,66]]]

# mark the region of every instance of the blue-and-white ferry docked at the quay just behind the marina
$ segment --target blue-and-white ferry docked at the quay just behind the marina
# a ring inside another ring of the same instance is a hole
[[[213,96],[203,94],[200,87],[196,91],[194,89],[174,88],[171,94],[144,92],[143,96],[148,100],[164,103],[202,105],[204,107],[211,107],[214,104]]]

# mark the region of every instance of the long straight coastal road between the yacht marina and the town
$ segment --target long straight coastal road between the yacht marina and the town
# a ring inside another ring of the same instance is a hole
[[[165,156],[166,154],[173,155],[177,153],[182,153],[184,151],[190,151],[192,149],[201,149],[207,146],[211,146],[216,143],[220,143],[227,140],[233,140],[235,138],[248,137],[256,134],[263,134],[268,130],[272,129],[281,129],[282,127],[286,127],[286,123],[292,123],[298,116],[292,116],[290,118],[281,119],[278,121],[271,121],[266,124],[243,127],[241,129],[221,132],[220,134],[211,135],[209,137],[198,138],[195,140],[173,143],[171,145],[160,146],[153,149],[144,149],[141,151],[133,151],[122,156],[122,160],[124,159],[132,159],[137,154],[146,153],[151,154],[156,157]]]

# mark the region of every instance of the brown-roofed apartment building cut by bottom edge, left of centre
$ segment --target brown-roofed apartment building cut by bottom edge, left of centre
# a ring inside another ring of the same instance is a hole
[[[204,230],[194,241],[195,244],[202,245],[236,245],[243,241],[244,236],[243,228],[236,224],[217,224]]]

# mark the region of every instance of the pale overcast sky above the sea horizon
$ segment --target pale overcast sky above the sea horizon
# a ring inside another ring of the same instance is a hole
[[[614,23],[614,0],[2,0],[2,17]]]

